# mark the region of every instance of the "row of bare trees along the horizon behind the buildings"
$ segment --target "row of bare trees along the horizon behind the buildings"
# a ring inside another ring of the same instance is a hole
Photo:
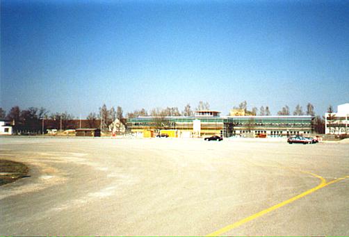
[[[234,108],[243,109],[247,111],[247,102],[243,101]],[[315,115],[314,106],[308,103],[306,111],[302,110],[302,106],[298,104],[295,106],[293,115],[311,115],[315,116],[314,119],[314,131],[316,133],[325,132],[325,122],[323,116]],[[209,110],[210,105],[208,102],[200,101],[195,111]],[[253,107],[251,109],[254,115],[271,115],[269,106],[261,106],[261,108]],[[328,111],[332,111],[332,106],[329,106]],[[110,109],[104,104],[99,108],[99,113],[89,113],[86,120],[80,120],[79,117],[64,113],[49,113],[45,108],[30,107],[25,110],[21,110],[19,106],[13,106],[8,111],[0,108],[0,120],[8,120],[13,124],[13,131],[15,133],[46,133],[47,129],[76,129],[76,128],[102,128],[102,130],[108,130],[109,125],[116,119],[120,120],[125,126],[127,125],[127,118],[139,117],[139,116],[192,116],[193,110],[190,104],[186,104],[183,111],[179,111],[177,107],[166,108],[153,108],[149,112],[142,108],[133,112],[127,113],[126,117],[123,115],[121,106],[117,106],[117,109],[112,106]],[[289,106],[285,105],[277,112],[277,115],[291,115]]]

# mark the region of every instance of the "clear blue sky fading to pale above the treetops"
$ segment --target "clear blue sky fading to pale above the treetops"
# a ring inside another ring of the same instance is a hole
[[[349,1],[1,0],[1,107],[349,102]]]

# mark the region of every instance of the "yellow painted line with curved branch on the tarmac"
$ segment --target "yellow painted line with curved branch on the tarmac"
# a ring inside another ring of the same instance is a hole
[[[288,199],[288,200],[286,200],[284,202],[280,202],[279,204],[276,204],[275,206],[271,206],[270,208],[265,209],[263,211],[259,211],[259,213],[255,213],[253,215],[250,215],[249,217],[244,218],[243,220],[239,220],[238,222],[235,222],[233,224],[229,224],[226,227],[223,227],[222,229],[218,229],[218,231],[214,231],[213,233],[208,234],[207,236],[220,236],[221,234],[223,234],[223,233],[225,233],[227,231],[230,231],[230,230],[232,230],[232,229],[234,229],[236,227],[241,226],[241,224],[245,224],[246,222],[250,222],[251,220],[259,218],[262,215],[265,215],[266,213],[270,213],[270,211],[274,211],[276,209],[279,209],[280,207],[285,206],[286,204],[289,204],[291,202],[294,202],[295,200],[298,200],[301,197],[305,197],[305,196],[307,196],[307,195],[309,195],[311,193],[314,193],[316,190],[319,190],[320,188],[323,188],[325,186],[329,186],[332,183],[336,183],[336,182],[341,181],[343,179],[349,178],[349,176],[346,176],[346,177],[341,177],[339,179],[334,179],[334,180],[332,180],[330,182],[326,182],[326,180],[323,177],[320,177],[320,175],[318,175],[318,174],[313,174],[311,172],[305,172],[305,171],[302,171],[302,172],[307,173],[307,174],[311,174],[314,177],[317,177],[318,179],[321,180],[321,183],[318,186],[316,186],[315,188],[311,188],[311,189],[305,191],[304,193],[301,193],[300,195],[297,195],[295,197],[291,197],[290,199]]]

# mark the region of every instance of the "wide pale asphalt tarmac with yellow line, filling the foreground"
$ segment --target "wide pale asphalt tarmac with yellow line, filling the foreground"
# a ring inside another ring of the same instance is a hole
[[[0,138],[0,235],[349,236],[349,144],[261,139]]]

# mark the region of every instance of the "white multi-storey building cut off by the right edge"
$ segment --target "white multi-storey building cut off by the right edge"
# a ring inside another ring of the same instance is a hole
[[[337,106],[336,113],[325,113],[325,134],[349,134],[349,103]]]

